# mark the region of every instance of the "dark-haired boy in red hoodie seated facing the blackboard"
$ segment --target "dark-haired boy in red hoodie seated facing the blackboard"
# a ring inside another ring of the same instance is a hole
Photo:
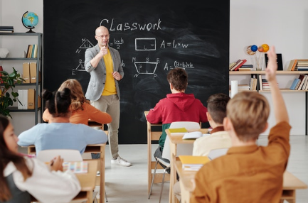
[[[162,134],[159,138],[159,148],[156,149],[154,157],[161,158],[166,139],[165,130],[172,122],[194,121],[207,122],[206,106],[203,106],[199,99],[193,94],[186,94],[185,89],[188,84],[188,75],[181,67],[176,67],[167,75],[172,94],[167,94],[166,98],[161,99],[154,109],[147,114],[147,121],[151,124],[162,123]],[[169,160],[162,158],[169,163]],[[164,167],[164,166],[163,166]]]

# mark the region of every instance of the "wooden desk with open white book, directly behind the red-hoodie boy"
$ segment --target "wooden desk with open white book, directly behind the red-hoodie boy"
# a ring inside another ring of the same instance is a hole
[[[201,131],[202,133],[208,133],[208,128],[189,129],[188,130],[188,132],[193,132],[193,131]],[[170,153],[171,153],[169,202],[174,203],[174,202],[178,202],[178,199],[176,199],[174,192],[173,192],[174,183],[176,183],[176,168],[175,168],[175,165],[174,165],[175,158],[177,156],[176,155],[176,146],[178,144],[193,144],[195,139],[183,140],[184,134],[171,136],[169,129],[166,129],[166,134],[167,134],[167,136],[169,137],[169,140],[170,140]]]

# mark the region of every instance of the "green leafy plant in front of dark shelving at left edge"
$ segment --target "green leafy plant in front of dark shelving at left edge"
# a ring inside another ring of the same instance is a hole
[[[4,116],[11,116],[9,106],[13,106],[14,102],[21,101],[18,100],[18,93],[14,92],[13,87],[15,84],[21,84],[24,79],[21,78],[21,75],[13,67],[13,72],[10,74],[6,71],[0,71],[0,114]],[[8,90],[11,89],[11,94]]]

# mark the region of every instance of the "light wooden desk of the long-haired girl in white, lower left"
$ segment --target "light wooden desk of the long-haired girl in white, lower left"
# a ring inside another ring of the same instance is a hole
[[[75,174],[80,182],[81,190],[74,197],[73,202],[93,202],[93,190],[95,188],[95,179],[97,171],[97,160],[87,160],[87,173]],[[38,202],[34,197],[31,196],[31,202]]]

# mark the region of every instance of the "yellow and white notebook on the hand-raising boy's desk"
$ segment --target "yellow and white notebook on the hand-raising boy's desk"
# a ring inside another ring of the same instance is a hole
[[[184,170],[199,170],[211,160],[207,156],[179,155]]]

